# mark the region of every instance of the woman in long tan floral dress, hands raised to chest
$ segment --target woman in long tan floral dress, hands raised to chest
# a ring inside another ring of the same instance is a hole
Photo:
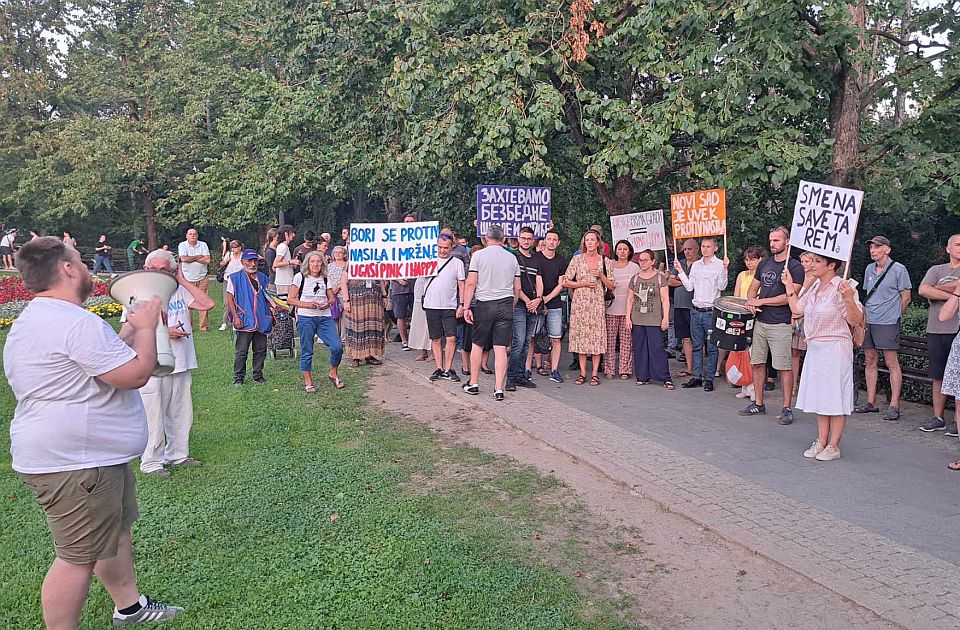
[[[591,385],[599,385],[600,355],[607,349],[606,293],[616,284],[613,270],[603,258],[600,234],[587,230],[580,239],[580,253],[573,257],[564,274],[563,286],[576,289],[570,304],[570,352],[577,355],[580,376],[575,385],[587,381],[587,356],[593,358]]]

